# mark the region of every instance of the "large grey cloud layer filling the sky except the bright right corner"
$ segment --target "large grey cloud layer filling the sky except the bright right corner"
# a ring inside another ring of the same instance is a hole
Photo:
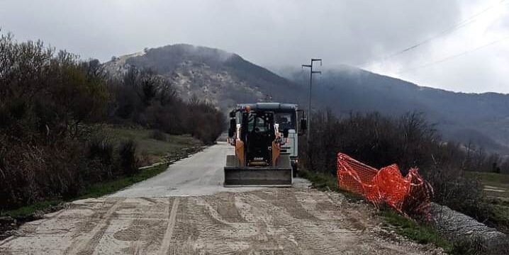
[[[101,61],[174,43],[217,47],[270,67],[323,57],[329,67],[380,60],[449,28],[476,1],[4,0],[0,26]],[[432,45],[396,58],[408,64]],[[420,78],[417,78],[418,80]],[[435,82],[435,81],[434,81]],[[440,80],[434,86],[440,86]]]

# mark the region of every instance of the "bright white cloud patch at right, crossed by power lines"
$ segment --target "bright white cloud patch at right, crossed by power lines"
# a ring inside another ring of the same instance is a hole
[[[467,26],[432,40],[427,50],[420,48],[388,62],[371,64],[370,69],[417,84],[452,91],[509,93],[508,1],[477,1],[462,6],[459,21],[476,16]],[[491,42],[496,42],[489,45]],[[482,47],[488,45],[486,47]],[[476,48],[479,50],[474,50]],[[471,51],[474,50],[474,51]],[[444,62],[430,64],[453,57]],[[413,67],[420,67],[413,69]],[[410,70],[408,70],[410,69]],[[408,70],[408,72],[405,72]],[[403,73],[399,73],[402,72]]]

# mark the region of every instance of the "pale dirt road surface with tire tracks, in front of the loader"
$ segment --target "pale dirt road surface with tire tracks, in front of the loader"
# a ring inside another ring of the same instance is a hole
[[[434,254],[374,208],[306,188],[223,188],[225,144],[112,196],[77,200],[0,241],[0,254]]]

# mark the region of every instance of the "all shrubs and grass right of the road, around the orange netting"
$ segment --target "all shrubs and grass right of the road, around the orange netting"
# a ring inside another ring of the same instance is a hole
[[[403,175],[410,167],[417,166],[434,188],[434,202],[509,232],[507,197],[500,198],[503,195],[499,191],[486,191],[486,186],[507,191],[505,177],[509,175],[498,173],[508,171],[505,169],[508,162],[496,154],[486,155],[481,149],[474,149],[474,145],[444,142],[423,114],[406,113],[389,118],[379,113],[351,113],[337,118],[331,111],[325,111],[313,116],[311,127],[311,147],[307,149],[306,142],[300,145],[305,152],[303,165],[308,169],[305,177],[317,188],[338,190],[337,152],[376,168],[396,163]],[[486,172],[475,174],[474,171]],[[409,220],[388,208],[380,213],[389,225],[396,227],[396,232],[409,239],[433,242],[456,254],[477,252],[470,244],[452,245],[438,237],[426,222]]]

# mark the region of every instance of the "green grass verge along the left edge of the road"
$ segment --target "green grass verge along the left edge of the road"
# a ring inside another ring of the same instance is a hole
[[[132,140],[135,143],[135,157],[139,159],[137,166],[140,166],[140,170],[134,174],[117,176],[115,179],[104,180],[86,186],[77,196],[41,200],[13,210],[4,210],[0,212],[0,218],[2,219],[0,220],[0,239],[9,235],[9,232],[6,233],[6,231],[16,229],[23,222],[37,220],[45,213],[61,210],[64,208],[65,203],[77,199],[99,198],[100,196],[105,196],[131,186],[134,183],[150,179],[165,171],[169,164],[203,149],[203,144],[189,135],[168,135],[163,133],[167,139],[155,140],[151,136],[154,130],[121,127],[109,127],[104,130],[108,137],[108,142],[115,149],[118,149],[121,142],[125,140]],[[150,166],[150,164],[154,163],[160,164]]]

